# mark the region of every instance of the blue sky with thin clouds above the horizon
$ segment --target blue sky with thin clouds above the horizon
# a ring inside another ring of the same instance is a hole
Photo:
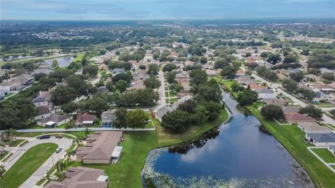
[[[1,20],[335,18],[335,0],[0,0]]]

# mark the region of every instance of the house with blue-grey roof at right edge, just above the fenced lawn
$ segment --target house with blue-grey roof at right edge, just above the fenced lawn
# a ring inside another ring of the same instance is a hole
[[[306,133],[305,138],[315,146],[335,145],[335,133]]]

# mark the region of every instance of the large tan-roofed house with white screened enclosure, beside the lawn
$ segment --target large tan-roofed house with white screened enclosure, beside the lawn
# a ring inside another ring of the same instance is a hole
[[[110,164],[112,153],[119,145],[122,131],[95,132],[87,136],[87,144],[78,147],[76,157],[83,164]],[[119,157],[121,153],[119,154]],[[115,160],[115,158],[114,158]]]

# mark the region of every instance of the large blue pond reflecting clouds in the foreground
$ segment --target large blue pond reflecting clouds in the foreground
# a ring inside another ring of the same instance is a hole
[[[306,171],[260,122],[223,94],[232,120],[217,135],[185,151],[151,150],[142,170],[146,187],[314,187]]]

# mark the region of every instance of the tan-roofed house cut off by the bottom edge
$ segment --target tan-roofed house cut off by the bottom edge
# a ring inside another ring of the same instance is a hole
[[[94,187],[107,188],[108,176],[103,170],[96,168],[87,168],[82,166],[69,167],[64,172],[65,180],[50,181],[45,188],[80,188],[80,187]]]

